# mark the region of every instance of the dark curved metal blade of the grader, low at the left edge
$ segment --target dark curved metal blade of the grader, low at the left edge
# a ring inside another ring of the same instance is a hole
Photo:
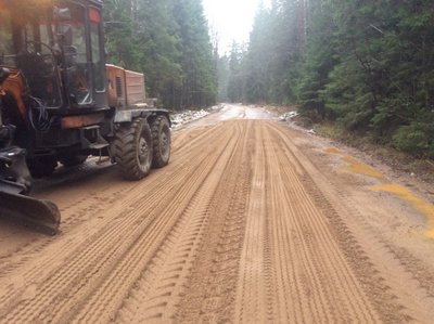
[[[0,191],[0,217],[48,235],[55,235],[61,222],[53,203],[4,191]]]

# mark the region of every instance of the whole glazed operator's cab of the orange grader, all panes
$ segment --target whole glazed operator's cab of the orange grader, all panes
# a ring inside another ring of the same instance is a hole
[[[2,0],[0,20],[0,65],[17,67],[34,96],[58,106],[60,76],[72,106],[92,104],[93,88],[105,90],[97,9],[68,0]]]

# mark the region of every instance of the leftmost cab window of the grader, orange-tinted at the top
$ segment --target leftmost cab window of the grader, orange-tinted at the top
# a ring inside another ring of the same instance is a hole
[[[18,68],[30,95],[49,107],[62,104],[58,62],[53,53],[52,9],[29,1],[0,4],[0,65]]]

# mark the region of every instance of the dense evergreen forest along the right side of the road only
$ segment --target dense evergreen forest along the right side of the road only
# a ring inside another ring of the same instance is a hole
[[[434,158],[431,0],[272,1],[219,67],[220,100],[295,104],[336,132]]]

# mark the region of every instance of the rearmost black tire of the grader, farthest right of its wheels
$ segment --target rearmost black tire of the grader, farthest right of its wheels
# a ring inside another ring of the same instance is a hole
[[[153,157],[152,167],[163,168],[170,159],[170,125],[165,116],[158,116],[152,124]]]

